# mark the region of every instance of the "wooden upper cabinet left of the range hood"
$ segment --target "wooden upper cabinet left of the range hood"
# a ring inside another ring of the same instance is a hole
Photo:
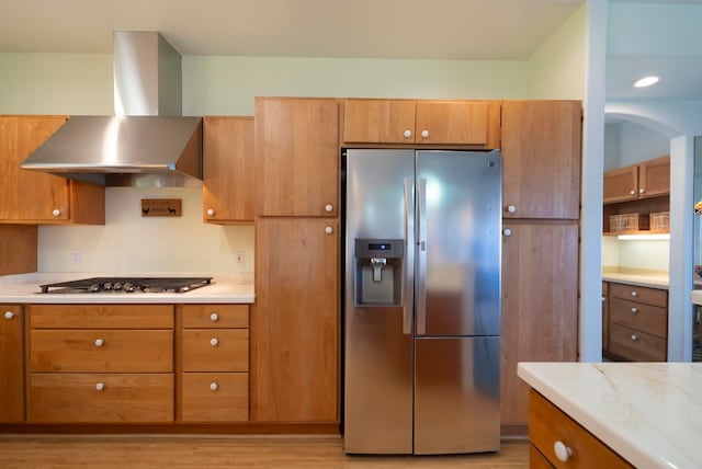
[[[0,222],[104,225],[104,187],[20,169],[66,116],[0,116]]]

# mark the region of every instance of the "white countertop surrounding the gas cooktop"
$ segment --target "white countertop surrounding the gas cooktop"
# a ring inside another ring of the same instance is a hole
[[[214,277],[211,285],[186,293],[98,293],[42,294],[39,285],[89,277],[196,276]],[[253,302],[252,274],[114,274],[114,273],[32,273],[0,276],[0,302],[4,304],[204,304]]]

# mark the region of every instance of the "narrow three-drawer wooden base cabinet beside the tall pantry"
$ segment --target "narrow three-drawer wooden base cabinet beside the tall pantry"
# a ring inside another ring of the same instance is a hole
[[[183,305],[182,422],[249,420],[249,306]]]

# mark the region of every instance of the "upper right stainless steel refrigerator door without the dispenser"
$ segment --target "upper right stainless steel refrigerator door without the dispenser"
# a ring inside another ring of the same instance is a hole
[[[498,151],[417,152],[418,334],[499,335],[501,178]]]

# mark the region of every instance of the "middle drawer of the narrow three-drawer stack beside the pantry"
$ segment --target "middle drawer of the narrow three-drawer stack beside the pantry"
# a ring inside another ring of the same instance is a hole
[[[183,371],[248,371],[248,329],[183,331]]]

